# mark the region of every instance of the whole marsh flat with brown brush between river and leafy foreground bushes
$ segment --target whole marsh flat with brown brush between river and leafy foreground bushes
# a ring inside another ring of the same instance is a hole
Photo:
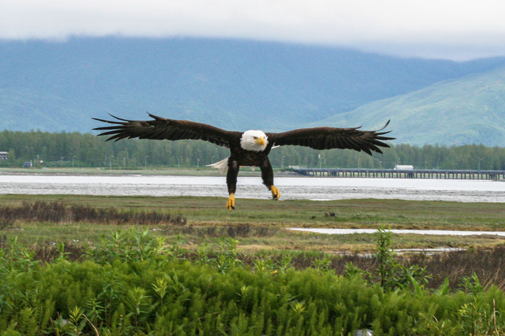
[[[18,243],[34,251],[36,258],[52,260],[59,254],[59,244],[64,244],[69,258],[79,259],[82,251],[89,246],[100,244],[103,237],[117,229],[149,230],[150,234],[162,237],[167,241],[178,241],[187,259],[193,259],[202,246],[210,250],[218,249],[223,238],[238,240],[240,252],[237,258],[254,266],[255,260],[271,260],[279,265],[285,258],[290,258],[291,265],[297,269],[306,267],[327,267],[337,274],[344,274],[347,265],[352,264],[371,274],[370,279],[377,277],[377,263],[369,255],[376,249],[375,234],[325,235],[308,232],[285,230],[282,226],[295,226],[296,220],[289,215],[286,208],[296,208],[297,213],[310,214],[314,207],[324,210],[335,210],[334,217],[321,214],[316,220],[319,223],[336,225],[347,214],[354,218],[352,227],[360,227],[363,220],[370,221],[368,227],[380,228],[386,218],[399,220],[417,218],[427,222],[435,216],[444,218],[449,228],[458,226],[460,219],[468,217],[466,229],[483,230],[476,226],[480,218],[484,223],[503,220],[501,205],[482,204],[483,214],[475,214],[474,204],[447,202],[409,202],[380,200],[346,200],[333,203],[296,201],[285,204],[272,201],[245,200],[250,205],[266,205],[264,217],[271,224],[262,222],[224,221],[238,218],[238,211],[229,214],[213,208],[216,198],[212,197],[100,197],[100,196],[35,196],[33,203],[26,201],[26,196],[4,195],[5,202],[0,207],[3,230],[0,231],[0,243],[17,239]],[[64,203],[65,202],[65,203]],[[272,205],[273,204],[273,205]],[[120,206],[121,207],[118,207]],[[275,212],[271,207],[281,205],[281,211]],[[115,207],[116,206],[116,207]],[[370,206],[370,209],[366,209]],[[466,206],[468,208],[466,208]],[[186,207],[186,208],[185,208]],[[243,211],[245,215],[258,210]],[[354,213],[353,213],[354,211]],[[178,213],[181,215],[171,215]],[[192,214],[197,214],[192,215]],[[217,214],[216,216],[214,216]],[[184,217],[183,217],[184,216]],[[188,219],[186,220],[186,216]],[[231,216],[231,217],[230,217]],[[496,218],[494,218],[496,216]],[[198,220],[194,220],[198,217]],[[208,222],[201,223],[202,218]],[[347,223],[346,221],[341,222]],[[471,225],[470,225],[471,224]],[[405,224],[404,224],[405,225]],[[342,225],[345,227],[345,225]],[[347,226],[347,227],[348,227]],[[398,227],[397,225],[396,227]],[[402,228],[412,228],[406,225]],[[392,225],[393,227],[393,225]],[[440,228],[440,227],[439,227]],[[441,228],[446,228],[442,226]],[[433,274],[429,286],[436,287],[445,278],[457,284],[463,277],[476,273],[482,283],[494,283],[505,288],[505,239],[496,236],[423,236],[391,234],[391,248],[435,248],[463,247],[469,251],[451,252],[426,256],[412,254],[401,256],[399,262],[406,266],[419,264]],[[365,252],[365,255],[363,254]],[[318,260],[324,260],[323,263]]]

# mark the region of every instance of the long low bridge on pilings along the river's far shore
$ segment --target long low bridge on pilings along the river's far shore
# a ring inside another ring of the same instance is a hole
[[[434,178],[459,180],[505,179],[505,170],[293,168],[293,171],[300,175],[321,177]]]

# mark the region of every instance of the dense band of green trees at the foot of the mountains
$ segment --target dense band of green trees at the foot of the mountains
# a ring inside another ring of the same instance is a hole
[[[8,160],[0,160],[2,167],[21,167],[30,161],[35,167],[201,167],[229,155],[228,149],[204,141],[105,142],[91,133],[9,130],[0,132],[0,152],[8,152]],[[391,144],[383,155],[369,156],[351,150],[283,146],[272,150],[270,161],[275,168],[393,168],[402,164],[417,169],[505,170],[505,148]]]

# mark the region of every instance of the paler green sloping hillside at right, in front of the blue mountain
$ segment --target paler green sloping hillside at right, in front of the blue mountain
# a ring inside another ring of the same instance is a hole
[[[370,128],[388,119],[395,143],[505,147],[505,67],[375,101],[313,125]]]

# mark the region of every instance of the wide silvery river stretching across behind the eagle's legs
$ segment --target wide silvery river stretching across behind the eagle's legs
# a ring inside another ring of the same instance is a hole
[[[398,178],[277,177],[281,199],[398,198],[505,202],[505,182]],[[0,194],[227,197],[226,177],[0,174]],[[259,177],[239,177],[236,197],[268,198]]]

